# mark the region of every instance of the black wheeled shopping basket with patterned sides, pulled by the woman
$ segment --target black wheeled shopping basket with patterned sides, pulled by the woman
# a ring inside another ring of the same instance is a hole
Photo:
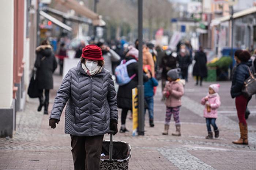
[[[109,152],[110,151],[110,152]],[[104,140],[102,143],[101,170],[128,170],[129,159],[131,158],[131,146],[127,142]]]

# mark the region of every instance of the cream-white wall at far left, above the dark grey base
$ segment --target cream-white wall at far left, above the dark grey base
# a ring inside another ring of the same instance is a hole
[[[13,85],[14,0],[1,0],[0,108],[11,108]]]

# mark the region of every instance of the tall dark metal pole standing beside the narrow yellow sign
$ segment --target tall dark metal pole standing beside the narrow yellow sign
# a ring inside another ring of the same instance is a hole
[[[143,59],[142,59],[142,0],[138,0],[138,40],[139,40],[139,84],[138,84],[138,95],[139,95],[139,130],[138,135],[144,135],[144,85],[143,85]]]

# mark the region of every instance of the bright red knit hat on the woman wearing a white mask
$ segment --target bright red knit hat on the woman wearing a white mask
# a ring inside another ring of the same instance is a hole
[[[91,60],[103,60],[101,48],[96,45],[87,45],[82,50],[82,57]]]

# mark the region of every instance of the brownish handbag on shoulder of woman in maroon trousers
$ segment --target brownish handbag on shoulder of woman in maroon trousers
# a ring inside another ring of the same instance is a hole
[[[249,69],[249,68],[248,68]],[[244,88],[242,89],[242,94],[249,98],[253,94],[256,94],[256,74],[252,74],[251,70],[249,69],[250,76],[244,82]]]

